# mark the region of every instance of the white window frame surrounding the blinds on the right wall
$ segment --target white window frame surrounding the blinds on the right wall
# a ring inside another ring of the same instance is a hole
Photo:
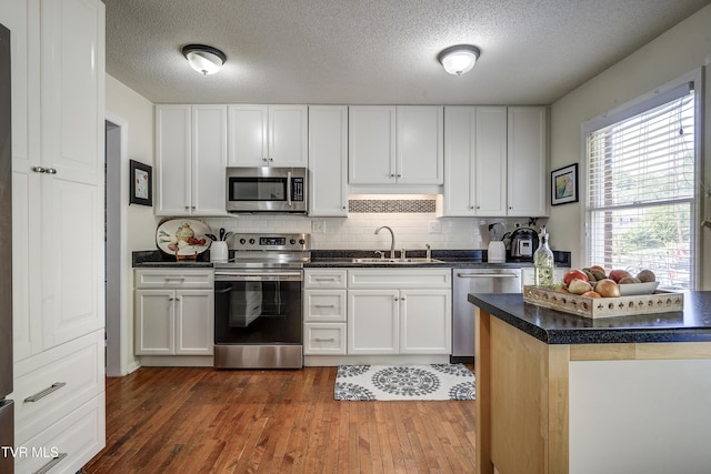
[[[653,89],[635,99],[632,99],[621,105],[615,107],[593,119],[590,119],[581,124],[581,173],[580,182],[584,183],[584,192],[581,193],[582,212],[580,213],[581,229],[583,231],[583,246],[582,246],[582,262],[589,262],[589,239],[590,239],[590,186],[588,185],[588,134],[600,130],[610,124],[621,122],[630,119],[637,114],[640,114],[647,110],[653,109],[664,102],[672,100],[674,90],[683,87],[684,84],[692,83],[694,91],[694,193],[693,203],[691,210],[691,235],[690,235],[690,249],[691,249],[691,281],[690,290],[698,290],[701,283],[701,225],[702,210],[703,210],[703,152],[702,144],[704,141],[704,122],[703,122],[703,103],[704,103],[704,90],[703,90],[703,74],[701,69],[695,69],[680,78],[677,78],[664,85]],[[711,189],[709,190],[711,196]]]

